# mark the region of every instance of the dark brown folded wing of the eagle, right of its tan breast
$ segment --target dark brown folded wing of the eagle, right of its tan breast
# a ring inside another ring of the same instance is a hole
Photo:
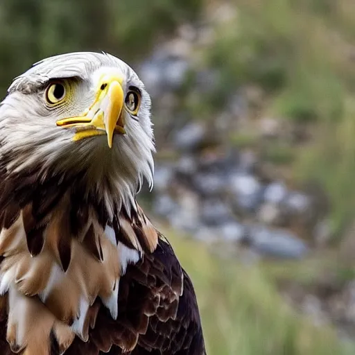
[[[164,237],[155,252],[128,266],[118,304],[119,316],[113,320],[96,300],[89,340],[76,338],[65,354],[205,354],[193,285]]]

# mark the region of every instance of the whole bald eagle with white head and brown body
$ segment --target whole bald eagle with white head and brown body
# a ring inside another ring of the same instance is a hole
[[[150,96],[106,53],[46,58],[0,105],[1,355],[202,355],[193,285],[137,205]]]

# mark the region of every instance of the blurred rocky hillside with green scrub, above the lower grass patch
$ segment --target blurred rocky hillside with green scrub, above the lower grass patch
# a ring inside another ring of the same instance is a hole
[[[355,207],[355,32],[345,22],[355,8],[238,3],[207,6],[137,65],[158,149],[144,198],[223,257],[279,260],[287,271],[270,269],[286,300],[355,336],[354,266],[340,261],[343,250],[351,259]]]

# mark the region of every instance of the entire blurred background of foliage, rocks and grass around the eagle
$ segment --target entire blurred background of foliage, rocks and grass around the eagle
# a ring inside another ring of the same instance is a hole
[[[355,352],[354,0],[1,0],[0,89],[108,51],[153,97],[140,201],[212,355]]]

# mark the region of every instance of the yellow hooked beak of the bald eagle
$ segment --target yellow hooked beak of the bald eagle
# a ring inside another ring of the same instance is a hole
[[[74,141],[107,135],[107,144],[111,148],[114,132],[125,134],[122,81],[122,78],[118,76],[103,76],[99,82],[94,103],[82,115],[60,119],[57,125],[63,128],[76,128]]]

